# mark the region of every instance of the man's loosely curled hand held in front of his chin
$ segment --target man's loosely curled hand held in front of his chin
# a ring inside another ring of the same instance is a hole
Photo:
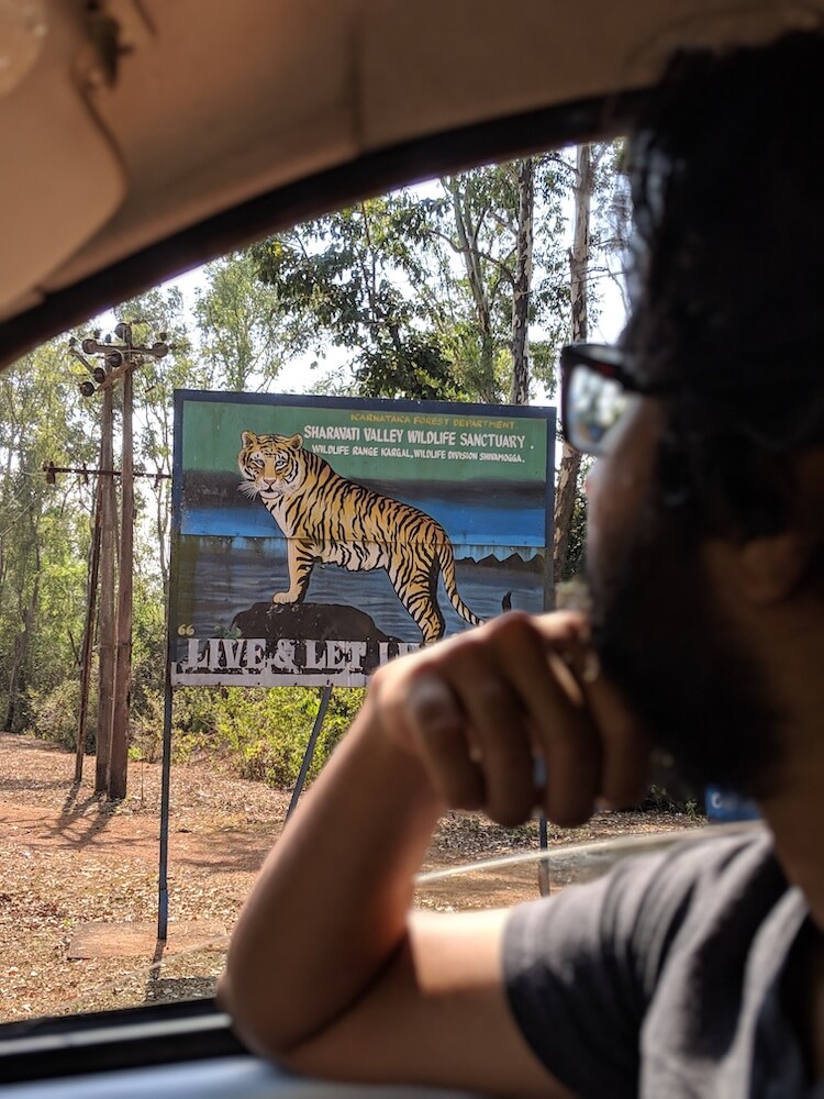
[[[504,614],[381,668],[370,723],[423,763],[447,806],[559,824],[643,796],[648,743],[599,674],[586,618]],[[366,717],[366,714],[365,714]]]

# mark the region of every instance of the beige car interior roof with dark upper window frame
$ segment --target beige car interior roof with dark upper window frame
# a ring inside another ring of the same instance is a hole
[[[624,129],[676,45],[824,0],[21,0],[0,7],[0,366],[392,186]]]

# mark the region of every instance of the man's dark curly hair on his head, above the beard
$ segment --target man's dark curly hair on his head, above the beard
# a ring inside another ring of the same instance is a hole
[[[822,104],[824,34],[683,53],[628,145],[622,344],[678,393],[666,463],[745,534],[787,521],[780,456],[824,442]]]

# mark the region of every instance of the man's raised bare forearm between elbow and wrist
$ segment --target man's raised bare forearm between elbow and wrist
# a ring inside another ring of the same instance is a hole
[[[247,1041],[283,1054],[370,984],[405,939],[413,876],[442,808],[367,700],[235,930],[220,995]]]

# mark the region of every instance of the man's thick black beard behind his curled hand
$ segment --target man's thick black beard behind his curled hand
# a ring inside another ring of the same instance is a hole
[[[647,504],[631,544],[599,546],[609,562],[590,578],[594,644],[684,779],[759,797],[780,759],[778,711],[712,598],[695,528],[687,508]]]

